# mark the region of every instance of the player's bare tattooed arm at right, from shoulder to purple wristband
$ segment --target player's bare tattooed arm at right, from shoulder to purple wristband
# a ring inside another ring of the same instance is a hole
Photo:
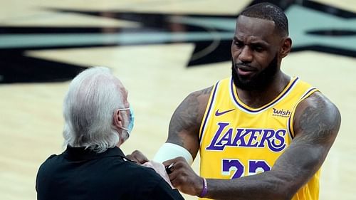
[[[295,138],[269,172],[240,179],[208,179],[211,199],[291,199],[318,171],[340,128],[340,112],[315,93],[295,111]]]

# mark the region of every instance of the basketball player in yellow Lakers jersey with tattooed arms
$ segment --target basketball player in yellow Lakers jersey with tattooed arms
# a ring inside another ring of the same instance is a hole
[[[180,191],[209,199],[318,199],[340,112],[317,88],[281,71],[291,45],[277,6],[241,12],[231,77],[183,100],[155,155],[171,166]],[[201,177],[189,166],[198,150]]]

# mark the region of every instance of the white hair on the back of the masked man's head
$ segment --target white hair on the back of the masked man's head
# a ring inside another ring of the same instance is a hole
[[[123,107],[123,85],[109,68],[94,67],[70,83],[63,102],[63,145],[105,152],[120,135],[112,125],[114,112]]]

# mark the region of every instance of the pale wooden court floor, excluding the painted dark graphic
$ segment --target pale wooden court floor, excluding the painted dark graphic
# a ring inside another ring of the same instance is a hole
[[[105,16],[58,12],[53,9],[84,11],[126,11],[134,14],[234,15],[251,1],[5,1],[0,0],[1,27],[137,27],[139,22]],[[356,13],[352,0],[318,0],[318,4]],[[313,20],[313,19],[310,19]],[[355,24],[355,18],[347,22]],[[293,26],[293,24],[290,24]],[[150,30],[147,30],[150,31]],[[350,27],[356,32],[356,26]],[[356,46],[355,34],[347,40]],[[6,43],[0,34],[1,43]],[[21,45],[14,44],[14,45]],[[190,92],[206,88],[230,75],[231,63],[224,60],[187,68],[194,54],[194,42],[162,42],[130,46],[84,46],[80,48],[31,49],[30,58],[55,60],[70,65],[105,65],[129,91],[135,108],[135,128],[122,149],[140,149],[152,158],[166,140],[169,119]],[[229,49],[227,50],[229,52]],[[355,51],[353,51],[355,52]],[[16,60],[14,60],[16,61]],[[6,65],[1,63],[0,68]],[[356,145],[352,129],[356,113],[356,55],[305,50],[290,53],[282,69],[312,83],[339,107],[342,125],[335,144],[323,164],[320,199],[356,199]],[[31,76],[31,72],[28,76]],[[1,74],[0,74],[1,79]],[[0,84],[0,199],[36,199],[35,180],[39,165],[62,147],[62,101],[69,80],[53,83]],[[199,172],[199,160],[193,164]],[[184,195],[186,199],[197,199]]]

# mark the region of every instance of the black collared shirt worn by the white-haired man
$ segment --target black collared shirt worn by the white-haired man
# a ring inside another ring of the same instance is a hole
[[[183,199],[153,169],[125,158],[115,147],[97,154],[67,147],[41,164],[36,179],[38,200]]]

